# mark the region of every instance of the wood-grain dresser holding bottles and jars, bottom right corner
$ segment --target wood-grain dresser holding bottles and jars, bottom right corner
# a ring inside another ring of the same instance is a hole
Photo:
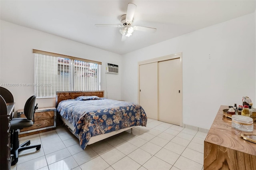
[[[232,128],[231,119],[220,109],[204,140],[204,170],[256,170],[256,144],[240,138],[240,133],[256,134]]]

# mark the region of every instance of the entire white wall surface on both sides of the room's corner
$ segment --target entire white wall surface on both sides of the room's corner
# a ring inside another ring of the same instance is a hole
[[[138,102],[138,61],[182,52],[184,124],[209,129],[220,105],[241,104],[242,96],[256,103],[255,14],[122,56],[2,20],[0,26],[0,83],[33,83],[32,49],[39,49],[101,61],[105,97]],[[105,74],[106,62],[119,65],[120,74]],[[15,110],[34,94],[34,87],[6,88],[14,95]],[[55,99],[37,103],[50,107]]]

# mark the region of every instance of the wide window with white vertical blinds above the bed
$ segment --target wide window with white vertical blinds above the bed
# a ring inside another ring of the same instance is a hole
[[[55,97],[56,91],[100,90],[101,62],[33,50],[35,94]]]

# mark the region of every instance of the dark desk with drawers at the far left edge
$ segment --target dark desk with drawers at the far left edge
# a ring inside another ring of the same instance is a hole
[[[12,158],[10,156],[10,121],[13,117],[15,103],[6,103],[7,115],[0,114],[0,169],[10,170]]]

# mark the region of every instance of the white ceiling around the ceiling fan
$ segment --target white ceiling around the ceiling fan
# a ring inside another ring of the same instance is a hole
[[[128,3],[137,5],[133,26],[157,28],[134,31],[121,42],[119,28]],[[118,54],[125,54],[255,11],[254,0],[1,0],[1,20]]]

